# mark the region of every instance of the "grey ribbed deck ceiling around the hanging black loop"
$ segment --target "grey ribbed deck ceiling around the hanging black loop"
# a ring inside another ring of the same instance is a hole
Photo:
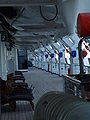
[[[56,36],[60,34],[60,31],[63,36],[67,34],[67,27],[59,13],[55,20],[46,21],[40,14],[40,6],[28,6],[22,9],[24,9],[22,14],[13,22],[13,25],[20,29],[14,35],[17,43],[23,41],[25,44],[32,44],[35,48],[39,47],[41,43],[49,43],[50,35]],[[47,9],[46,14],[52,17],[55,12],[55,7],[52,6]]]

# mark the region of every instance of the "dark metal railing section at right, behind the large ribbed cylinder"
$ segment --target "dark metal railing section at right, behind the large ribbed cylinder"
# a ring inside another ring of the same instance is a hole
[[[82,80],[78,80],[75,79],[76,75],[63,75],[63,78],[65,80],[65,93],[73,94],[90,101],[90,84],[88,81],[90,74],[86,74],[85,76],[83,78],[81,76]]]

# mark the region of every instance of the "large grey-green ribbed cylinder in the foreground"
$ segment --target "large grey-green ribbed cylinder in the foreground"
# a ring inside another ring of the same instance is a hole
[[[34,120],[90,120],[90,102],[52,91],[38,101]]]

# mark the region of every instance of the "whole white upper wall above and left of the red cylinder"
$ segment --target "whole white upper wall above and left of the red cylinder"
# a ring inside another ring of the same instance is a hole
[[[90,12],[90,0],[67,0],[61,7],[68,32],[73,34],[76,31],[78,13]]]

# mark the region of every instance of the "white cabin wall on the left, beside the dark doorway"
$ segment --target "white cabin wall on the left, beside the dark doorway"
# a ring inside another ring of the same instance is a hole
[[[7,74],[14,73],[18,69],[17,49],[8,51],[5,42],[1,42],[0,34],[0,77],[7,80]]]

